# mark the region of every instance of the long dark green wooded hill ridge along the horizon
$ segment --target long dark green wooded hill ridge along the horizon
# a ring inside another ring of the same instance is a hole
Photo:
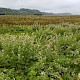
[[[47,16],[67,16],[72,15],[71,13],[47,13],[41,12],[35,9],[25,9],[21,8],[19,10],[9,9],[9,8],[0,8],[0,15],[47,15]]]

